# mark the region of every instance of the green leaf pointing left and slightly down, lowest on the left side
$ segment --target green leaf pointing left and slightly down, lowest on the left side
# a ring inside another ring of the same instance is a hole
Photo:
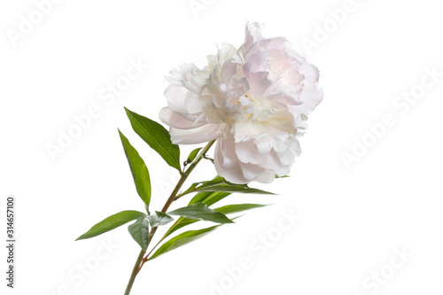
[[[122,211],[120,213],[113,214],[103,221],[98,222],[92,228],[90,228],[85,234],[77,237],[77,240],[82,240],[89,237],[96,237],[105,233],[106,231],[120,227],[121,225],[128,223],[129,221],[134,221],[137,218],[146,216],[145,213],[138,211]]]

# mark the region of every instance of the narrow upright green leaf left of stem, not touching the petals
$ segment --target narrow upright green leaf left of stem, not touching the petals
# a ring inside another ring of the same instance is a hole
[[[123,136],[120,130],[119,134],[126,158],[128,159],[132,177],[136,183],[137,193],[144,201],[144,204],[149,208],[149,203],[151,201],[151,179],[149,177],[148,168],[146,167],[146,164],[144,164],[144,160],[138,154],[138,151],[129,144],[128,138]]]

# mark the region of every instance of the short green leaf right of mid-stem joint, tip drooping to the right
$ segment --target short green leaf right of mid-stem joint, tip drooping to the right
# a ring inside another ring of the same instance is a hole
[[[207,207],[206,204],[196,203],[191,206],[176,209],[168,212],[169,215],[180,215],[190,219],[201,219],[203,221],[213,221],[218,223],[233,223],[225,214],[217,212]]]

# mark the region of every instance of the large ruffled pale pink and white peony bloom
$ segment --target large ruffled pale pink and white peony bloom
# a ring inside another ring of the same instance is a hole
[[[266,39],[261,25],[245,28],[237,50],[222,44],[208,65],[170,72],[167,107],[159,118],[174,144],[216,141],[214,166],[229,182],[272,182],[300,154],[307,114],[323,99],[318,70],[284,37]]]

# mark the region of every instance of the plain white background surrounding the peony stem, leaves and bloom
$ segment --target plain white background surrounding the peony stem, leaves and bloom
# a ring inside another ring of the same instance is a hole
[[[205,6],[196,12],[195,3]],[[324,100],[309,118],[302,155],[291,178],[258,185],[279,196],[226,199],[274,206],[146,264],[132,293],[211,294],[217,284],[224,289],[212,294],[441,294],[443,76],[430,86],[425,72],[443,72],[438,4],[355,0],[338,24],[330,10],[347,7],[345,0],[66,0],[13,42],[20,16],[29,19],[37,8],[30,0],[3,1],[0,213],[4,224],[6,196],[16,196],[18,245],[14,290],[5,287],[3,246],[0,252],[2,294],[123,293],[139,251],[127,227],[74,242],[108,215],[144,210],[117,128],[148,164],[153,209],[176,178],[132,131],[123,106],[156,119],[166,105],[169,70],[183,62],[205,66],[214,43],[241,45],[246,20],[265,23],[265,37],[286,36],[321,71]],[[324,26],[330,27],[322,38]],[[307,39],[315,42],[312,50],[303,45]],[[126,74],[131,59],[150,66],[106,105],[100,91]],[[396,97],[411,89],[419,97],[413,105],[393,105],[404,104]],[[72,128],[74,116],[91,105],[100,115],[51,159],[47,145],[58,144],[60,130]],[[379,128],[374,140],[368,125],[385,114],[395,124]],[[343,153],[352,155],[354,140],[364,138],[373,146],[346,167]],[[192,180],[213,175],[206,164]],[[282,212],[291,211],[301,219],[291,227],[285,222],[282,232]],[[261,244],[262,236],[273,245]],[[404,262],[395,249],[413,257]],[[251,268],[240,274],[245,258]],[[380,271],[383,283],[374,283],[370,276]]]

